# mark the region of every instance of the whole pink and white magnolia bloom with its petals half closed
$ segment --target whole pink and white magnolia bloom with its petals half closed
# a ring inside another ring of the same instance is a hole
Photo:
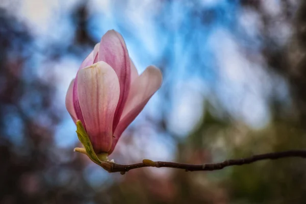
[[[161,83],[154,66],[138,74],[122,36],[111,30],[82,62],[69,85],[66,108],[74,122],[82,122],[95,154],[110,155]]]

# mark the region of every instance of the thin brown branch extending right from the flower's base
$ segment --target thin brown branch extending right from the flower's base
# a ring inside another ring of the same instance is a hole
[[[147,159],[143,160],[142,163],[130,164],[130,165],[121,165],[113,162],[103,162],[103,163],[109,164],[107,168],[109,172],[121,172],[121,174],[124,174],[129,170],[148,167],[148,166],[157,167],[157,168],[168,167],[176,169],[185,169],[186,171],[214,171],[214,170],[223,169],[228,166],[244,165],[261,160],[267,160],[267,159],[275,160],[275,159],[288,158],[288,157],[306,158],[306,150],[289,150],[281,152],[272,152],[268,154],[254,155],[248,158],[225,160],[223,162],[212,163],[212,164],[181,164],[175,162],[160,162],[160,161],[154,162]]]

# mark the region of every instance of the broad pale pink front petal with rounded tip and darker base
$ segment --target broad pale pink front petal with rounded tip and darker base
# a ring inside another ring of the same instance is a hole
[[[107,63],[98,62],[79,71],[80,107],[96,154],[108,152],[112,146],[119,91],[118,77]]]

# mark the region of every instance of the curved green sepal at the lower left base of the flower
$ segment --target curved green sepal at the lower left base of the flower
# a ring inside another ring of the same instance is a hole
[[[101,164],[101,161],[99,160],[99,158],[97,157],[97,155],[95,154],[92,144],[90,142],[89,136],[86,133],[84,126],[81,122],[81,120],[77,120],[77,132],[78,134],[78,138],[80,140],[80,142],[83,144],[83,146],[86,149],[87,152],[87,156],[96,164]]]

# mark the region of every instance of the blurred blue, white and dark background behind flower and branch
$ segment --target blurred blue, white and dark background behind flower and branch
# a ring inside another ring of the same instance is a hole
[[[161,89],[122,135],[117,163],[220,162],[306,148],[306,1],[1,0],[0,203],[306,203],[306,160],[213,172],[109,174],[65,108],[108,30]]]

